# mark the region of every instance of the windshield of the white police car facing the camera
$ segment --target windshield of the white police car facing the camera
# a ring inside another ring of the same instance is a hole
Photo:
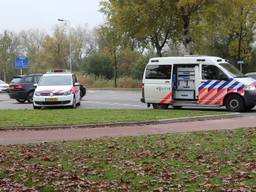
[[[71,75],[46,75],[40,79],[39,86],[72,85]]]

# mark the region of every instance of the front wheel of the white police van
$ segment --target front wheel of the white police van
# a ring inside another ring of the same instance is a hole
[[[225,106],[228,111],[241,112],[245,110],[244,100],[239,95],[230,95],[226,98]]]

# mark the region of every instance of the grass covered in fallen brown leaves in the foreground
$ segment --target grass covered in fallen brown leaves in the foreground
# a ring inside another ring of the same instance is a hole
[[[0,151],[0,184],[7,178],[39,191],[256,191],[256,128]]]

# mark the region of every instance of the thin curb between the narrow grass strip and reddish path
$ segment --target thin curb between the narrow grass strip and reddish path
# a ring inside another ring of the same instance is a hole
[[[56,126],[32,126],[32,127],[16,127],[16,128],[1,128],[0,131],[29,131],[29,130],[53,130],[53,129],[76,129],[76,128],[101,128],[101,127],[117,127],[117,126],[131,126],[131,125],[156,125],[167,123],[181,123],[190,121],[206,121],[217,119],[231,119],[242,117],[240,113],[222,114],[222,115],[207,115],[207,116],[195,116],[195,117],[182,117],[173,119],[161,119],[154,121],[139,121],[139,122],[118,122],[118,123],[101,123],[101,124],[82,124],[82,125],[56,125]]]

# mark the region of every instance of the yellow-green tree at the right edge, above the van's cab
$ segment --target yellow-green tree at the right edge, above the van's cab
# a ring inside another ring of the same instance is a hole
[[[204,19],[194,35],[198,52],[234,62],[241,59],[250,62],[256,24],[255,0],[216,0],[202,15]]]

